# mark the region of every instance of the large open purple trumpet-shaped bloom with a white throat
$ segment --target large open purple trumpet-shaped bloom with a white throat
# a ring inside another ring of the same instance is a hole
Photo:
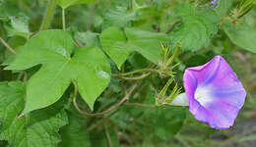
[[[244,104],[246,91],[223,57],[188,68],[183,76],[189,111],[214,128],[233,125]]]

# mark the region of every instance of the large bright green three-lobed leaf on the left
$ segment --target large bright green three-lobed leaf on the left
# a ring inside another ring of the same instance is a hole
[[[94,109],[96,97],[110,81],[110,65],[95,46],[76,51],[74,48],[71,35],[63,30],[40,31],[21,48],[6,70],[26,70],[42,65],[29,80],[24,114],[55,103],[72,80],[77,82],[83,99]]]

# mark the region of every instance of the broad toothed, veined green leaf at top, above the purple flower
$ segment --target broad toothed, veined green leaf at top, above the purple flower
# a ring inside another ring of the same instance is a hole
[[[182,23],[170,33],[172,48],[179,42],[183,50],[199,50],[218,32],[219,17],[210,8],[197,10],[193,5],[183,4],[176,8],[175,15]]]

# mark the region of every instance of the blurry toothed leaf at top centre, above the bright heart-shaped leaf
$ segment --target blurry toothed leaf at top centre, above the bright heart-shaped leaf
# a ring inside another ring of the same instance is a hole
[[[139,16],[136,14],[136,12],[131,12],[126,7],[107,9],[104,14],[104,22],[102,25],[103,29],[109,26],[131,26],[132,21],[139,19]]]

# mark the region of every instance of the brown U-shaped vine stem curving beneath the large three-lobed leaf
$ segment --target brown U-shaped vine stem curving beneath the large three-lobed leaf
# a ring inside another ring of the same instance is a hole
[[[100,116],[104,116],[106,114],[109,114],[111,112],[113,112],[114,110],[116,110],[117,108],[119,108],[122,104],[126,103],[127,101],[129,101],[130,96],[133,94],[133,92],[135,91],[135,89],[138,87],[139,83],[135,83],[132,88],[129,90],[129,92],[127,92],[127,94],[122,98],[121,101],[119,101],[117,104],[113,105],[112,107],[110,107],[108,110],[103,111],[101,113],[95,113],[95,114],[90,114],[87,112],[84,112],[83,110],[81,110],[77,104],[77,94],[78,94],[78,87],[75,81],[72,81],[72,83],[74,84],[74,97],[73,97],[73,105],[75,106],[76,110],[84,116],[89,116],[89,117],[100,117]]]

